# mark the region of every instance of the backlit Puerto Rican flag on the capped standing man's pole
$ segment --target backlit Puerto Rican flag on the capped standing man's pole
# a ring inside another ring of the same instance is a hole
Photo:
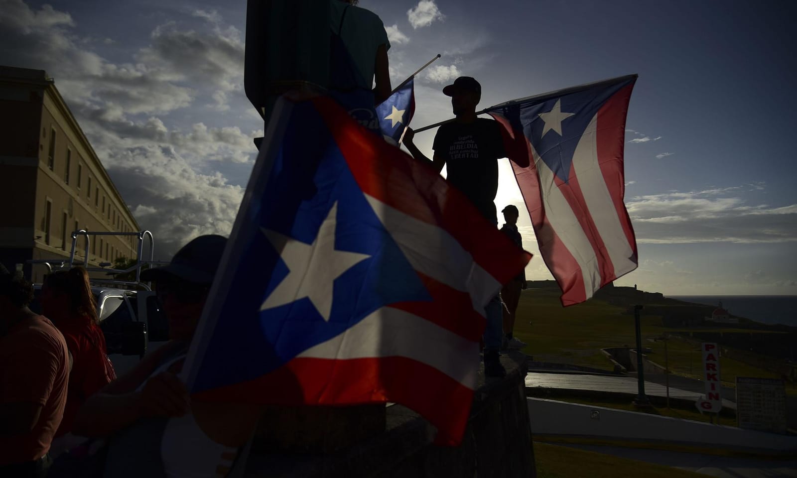
[[[485,112],[505,126],[507,153],[540,253],[579,304],[637,268],[623,203],[626,112],[636,75],[509,101]]]

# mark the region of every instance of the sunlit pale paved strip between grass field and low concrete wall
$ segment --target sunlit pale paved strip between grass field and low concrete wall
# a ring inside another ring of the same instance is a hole
[[[637,394],[637,379],[634,377],[611,377],[606,375],[588,374],[544,374],[529,372],[526,375],[526,386],[539,386],[543,388],[570,389],[570,390],[598,390],[622,394]],[[658,383],[645,381],[645,394],[648,396],[666,397],[665,386]],[[697,401],[702,392],[683,390],[669,387],[669,396],[673,398],[687,398]],[[722,406],[736,409],[736,404],[723,399]]]

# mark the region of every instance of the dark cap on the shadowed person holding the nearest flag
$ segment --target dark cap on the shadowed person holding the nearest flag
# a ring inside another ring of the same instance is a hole
[[[141,272],[141,280],[159,280],[171,276],[194,284],[211,284],[222,262],[227,238],[216,234],[199,236],[183,246],[168,265]]]

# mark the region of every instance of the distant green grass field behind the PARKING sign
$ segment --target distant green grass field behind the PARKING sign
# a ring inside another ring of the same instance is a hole
[[[612,363],[600,352],[600,349],[635,347],[634,316],[623,314],[623,311],[624,308],[601,300],[589,300],[583,304],[563,308],[559,303],[558,290],[533,289],[524,291],[520,296],[515,335],[528,343],[524,352],[532,355],[535,360],[612,370]],[[644,315],[644,313],[641,325],[642,347],[650,347],[653,353],[649,355],[649,359],[663,366],[664,343],[653,343],[646,339],[684,329],[662,327],[662,319],[658,315]],[[732,327],[692,327],[687,330],[741,331]],[[669,340],[667,349],[669,370],[673,374],[697,378],[702,355],[696,347],[673,339]],[[726,385],[733,386],[736,376],[779,378],[774,372],[721,357],[722,381],[726,382]],[[787,386],[787,392],[797,394],[797,388],[791,384]]]

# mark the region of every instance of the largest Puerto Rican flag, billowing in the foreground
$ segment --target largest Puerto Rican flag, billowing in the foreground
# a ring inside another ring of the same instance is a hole
[[[195,398],[398,402],[461,440],[485,305],[531,255],[332,100],[281,100],[188,359]]]

